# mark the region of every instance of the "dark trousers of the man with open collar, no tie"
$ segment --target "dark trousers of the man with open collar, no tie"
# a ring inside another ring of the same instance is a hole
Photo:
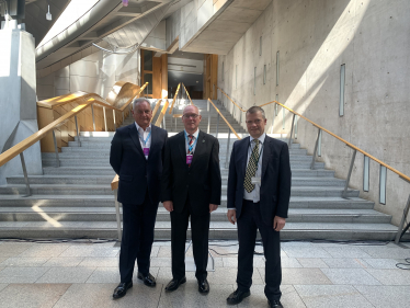
[[[153,229],[158,204],[152,204],[148,190],[143,204],[123,204],[123,239],[119,251],[122,283],[133,281],[135,260],[138,272],[149,273]]]

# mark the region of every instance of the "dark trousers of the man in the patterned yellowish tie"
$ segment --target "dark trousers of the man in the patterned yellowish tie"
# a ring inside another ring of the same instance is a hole
[[[269,300],[281,298],[281,238],[280,232],[262,220],[260,203],[243,199],[242,212],[238,218],[238,276],[240,290],[249,290],[252,285],[253,253],[258,229],[262,237],[265,261],[265,295]]]

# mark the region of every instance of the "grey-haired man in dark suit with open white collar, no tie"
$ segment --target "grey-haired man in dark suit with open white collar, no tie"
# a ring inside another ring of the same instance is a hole
[[[149,101],[133,102],[135,123],[118,128],[111,142],[110,163],[119,175],[118,202],[123,204],[123,239],[119,252],[121,283],[113,297],[123,297],[133,286],[135,260],[138,278],[147,286],[156,280],[149,273],[167,130],[151,125]]]

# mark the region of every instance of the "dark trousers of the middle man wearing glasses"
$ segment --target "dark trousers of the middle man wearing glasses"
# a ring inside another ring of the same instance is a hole
[[[194,215],[191,206],[190,202],[186,201],[182,213],[171,212],[172,277],[181,280],[185,276],[186,230],[191,216],[192,250],[196,266],[195,277],[198,281],[204,281],[207,277],[210,214]]]

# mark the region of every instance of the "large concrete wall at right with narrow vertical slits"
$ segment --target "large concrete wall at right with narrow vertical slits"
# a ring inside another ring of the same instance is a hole
[[[407,0],[274,0],[229,54],[219,57],[218,84],[247,107],[275,100],[277,94],[281,103],[410,174],[409,10]],[[339,116],[343,64],[344,116]],[[266,84],[263,84],[264,65]],[[266,106],[265,111],[271,130],[273,106]],[[288,112],[285,119],[286,127],[282,129],[280,110],[274,133],[289,132]],[[316,135],[311,124],[298,121],[298,142],[310,155]],[[350,148],[323,134],[321,160],[335,170],[338,178],[346,178],[351,157]],[[358,190],[363,183],[363,155],[357,155],[351,180],[351,186]],[[371,191],[362,192],[361,196],[374,201],[377,210],[394,215],[392,223],[397,225],[410,184],[388,171],[387,204],[379,204],[378,173],[379,166],[372,161]]]

